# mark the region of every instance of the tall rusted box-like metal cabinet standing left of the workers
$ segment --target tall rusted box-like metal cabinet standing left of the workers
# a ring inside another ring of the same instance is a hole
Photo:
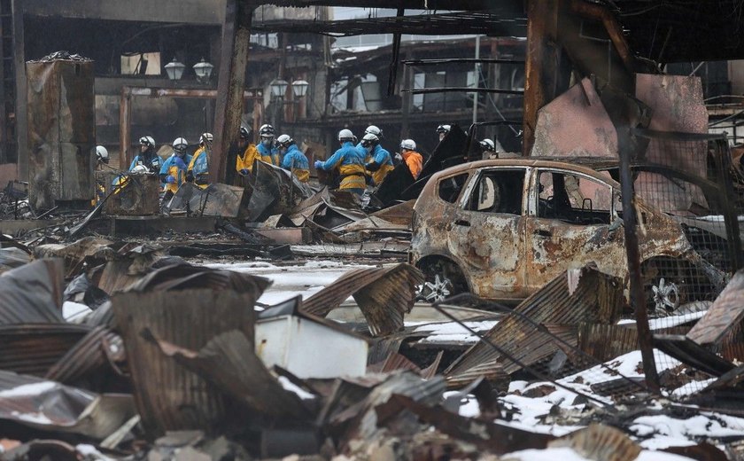
[[[93,62],[29,62],[29,199],[35,209],[94,196],[96,156]]]

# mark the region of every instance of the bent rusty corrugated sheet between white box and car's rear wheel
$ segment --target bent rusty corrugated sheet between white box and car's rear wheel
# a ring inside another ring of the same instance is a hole
[[[353,296],[367,319],[369,332],[383,336],[403,327],[403,314],[414,307],[416,285],[422,283],[421,271],[405,263],[352,270],[304,301],[300,309],[314,316],[327,316]]]

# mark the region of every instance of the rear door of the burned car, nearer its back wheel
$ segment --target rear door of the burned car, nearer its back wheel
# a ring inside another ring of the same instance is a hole
[[[524,294],[523,213],[528,168],[482,168],[471,176],[447,243],[471,291],[492,299]]]

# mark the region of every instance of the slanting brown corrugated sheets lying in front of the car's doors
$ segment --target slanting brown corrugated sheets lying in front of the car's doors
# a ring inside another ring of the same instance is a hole
[[[516,314],[506,316],[485,337],[516,360],[530,365],[551,356],[558,348],[553,336],[536,328],[523,316],[535,324],[615,324],[624,304],[622,282],[585,267],[577,274],[580,276],[577,281],[575,275],[571,276],[576,281],[571,292],[567,275],[564,272],[524,300],[515,308]],[[448,379],[456,379],[476,367],[487,370],[489,366],[503,367],[509,374],[522,368],[481,341],[458,358],[445,374]]]

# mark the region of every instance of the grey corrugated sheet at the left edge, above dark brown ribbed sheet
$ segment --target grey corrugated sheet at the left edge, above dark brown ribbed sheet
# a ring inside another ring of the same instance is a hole
[[[62,261],[42,259],[0,277],[0,324],[64,323]]]

